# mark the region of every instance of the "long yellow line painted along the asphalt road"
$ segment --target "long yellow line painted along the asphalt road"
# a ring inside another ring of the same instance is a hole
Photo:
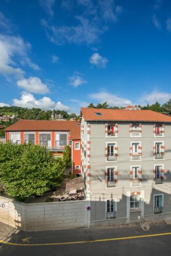
[[[60,243],[44,243],[44,244],[18,244],[18,243],[11,243],[11,242],[6,242],[4,240],[0,240],[0,243],[8,244],[8,245],[16,245],[16,246],[67,245],[67,244],[84,244],[84,243],[108,242],[108,241],[117,241],[117,240],[134,239],[134,238],[159,237],[159,236],[166,236],[168,234],[171,234],[171,232],[158,233],[158,234],[145,234],[145,235],[142,235],[142,236],[133,236],[133,237],[107,238],[107,239],[88,240],[88,241],[76,241],[76,242],[60,242]]]

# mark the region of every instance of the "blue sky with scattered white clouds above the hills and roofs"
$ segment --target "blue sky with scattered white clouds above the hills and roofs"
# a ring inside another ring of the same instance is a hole
[[[1,0],[0,106],[171,98],[169,0]]]

